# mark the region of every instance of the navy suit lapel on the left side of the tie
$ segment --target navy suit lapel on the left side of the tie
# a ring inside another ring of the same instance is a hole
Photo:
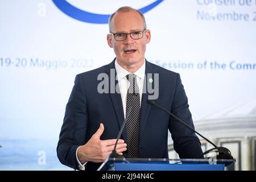
[[[122,105],[122,98],[121,98],[121,94],[117,93],[115,90],[115,86],[118,84],[118,80],[115,80],[115,77],[117,76],[117,73],[115,71],[115,59],[112,61],[112,63],[110,63],[107,68],[106,68],[106,73],[109,76],[109,96],[110,96],[110,100],[112,101],[112,105],[114,107],[114,111],[115,111],[115,115],[117,117],[117,121],[118,121],[118,125],[119,125],[119,129],[121,129],[122,123],[125,119],[124,114],[123,114],[123,105]],[[114,81],[114,84],[111,83],[111,81]],[[113,84],[114,88],[113,88]],[[112,90],[111,87],[112,86]],[[112,92],[110,92],[112,91]],[[126,137],[126,130],[123,129],[122,132],[122,137],[125,140],[125,142],[127,143],[127,137]]]

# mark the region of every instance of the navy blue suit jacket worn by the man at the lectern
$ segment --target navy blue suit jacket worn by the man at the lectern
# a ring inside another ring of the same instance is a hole
[[[100,127],[100,123],[104,123],[105,127],[101,135],[102,140],[117,138],[125,119],[121,94],[97,92],[97,86],[102,82],[97,80],[97,76],[106,73],[110,78],[110,69],[115,69],[114,61],[76,76],[57,144],[57,156],[66,166],[79,169],[76,161],[77,147],[88,142]],[[194,127],[179,74],[146,61],[146,75],[147,73],[152,73],[153,76],[154,73],[159,73],[159,97],[155,100],[156,104],[170,110],[189,126]],[[110,79],[105,81],[110,82]],[[117,82],[115,80],[115,84]],[[195,133],[163,110],[147,104],[147,99],[148,93],[143,93],[139,131],[140,157],[168,158],[168,129],[174,140],[174,149],[180,158],[197,158],[202,155],[200,140]],[[127,143],[125,131],[124,129],[121,138]],[[85,169],[96,170],[100,164],[88,162]]]

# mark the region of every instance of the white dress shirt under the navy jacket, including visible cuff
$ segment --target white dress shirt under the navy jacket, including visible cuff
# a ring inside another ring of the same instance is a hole
[[[143,91],[143,82],[144,82],[144,75],[145,75],[145,61],[142,65],[141,68],[139,68],[136,72],[134,72],[134,74],[136,75],[136,80],[137,80],[137,84],[139,87],[139,98],[140,100],[142,100],[142,91]],[[127,90],[130,86],[130,82],[127,80],[126,75],[129,75],[130,72],[126,71],[126,69],[123,69],[118,63],[117,61],[115,61],[115,71],[117,72],[117,80],[118,80],[118,85],[119,85],[119,89],[120,89],[120,94],[121,94],[121,98],[122,98],[122,104],[123,104],[123,114],[124,117],[126,115],[126,96],[127,96]],[[81,146],[79,146],[81,147]],[[77,148],[77,150],[79,149],[79,147]],[[79,169],[80,170],[85,170],[85,164],[81,164],[81,162],[79,161],[78,157],[77,157],[77,150],[76,150],[76,160],[77,163],[79,164]]]

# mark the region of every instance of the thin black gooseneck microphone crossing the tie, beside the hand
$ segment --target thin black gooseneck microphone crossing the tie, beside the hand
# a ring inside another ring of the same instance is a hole
[[[133,94],[133,98],[132,98],[132,100],[131,100],[131,106],[129,107],[129,110],[127,111],[125,120],[123,121],[122,126],[121,126],[121,129],[120,129],[120,131],[119,131],[119,133],[118,133],[118,135],[117,135],[117,141],[115,141],[114,150],[113,150],[112,153],[109,155],[109,158],[122,158],[122,159],[125,158],[123,155],[117,154],[117,151],[116,151],[115,149],[117,148],[117,142],[118,142],[118,140],[119,140],[120,137],[121,137],[121,134],[122,134],[122,132],[123,132],[123,128],[125,127],[125,123],[126,123],[128,117],[129,117],[129,115],[130,115],[131,109],[133,108],[134,100],[135,100],[136,96],[137,96],[137,94],[134,93],[134,94]]]

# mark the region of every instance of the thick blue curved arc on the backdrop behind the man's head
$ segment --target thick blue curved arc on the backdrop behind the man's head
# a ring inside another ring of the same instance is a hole
[[[155,2],[151,3],[150,5],[139,9],[139,11],[141,11],[141,13],[144,14],[147,11],[150,11],[151,9],[153,9],[154,7],[159,5],[159,3],[161,3],[162,1],[163,0],[155,1]],[[65,13],[68,16],[71,16],[72,18],[80,20],[82,22],[104,24],[104,23],[108,23],[108,21],[109,21],[110,15],[94,14],[94,13],[90,13],[88,11],[80,10],[65,0],[52,0],[52,2],[63,13]]]

